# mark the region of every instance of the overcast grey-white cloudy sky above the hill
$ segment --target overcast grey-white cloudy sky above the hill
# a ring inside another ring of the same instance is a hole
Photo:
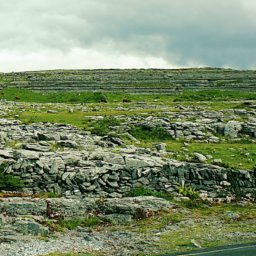
[[[0,0],[0,72],[256,68],[256,0]]]

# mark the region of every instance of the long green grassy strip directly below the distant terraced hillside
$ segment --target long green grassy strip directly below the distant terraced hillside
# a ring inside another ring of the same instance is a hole
[[[0,90],[0,99],[36,103],[99,103],[123,101],[195,102],[256,100],[256,92],[243,91],[191,91],[185,90],[176,95],[125,94],[102,92],[35,92],[26,89],[5,88]]]

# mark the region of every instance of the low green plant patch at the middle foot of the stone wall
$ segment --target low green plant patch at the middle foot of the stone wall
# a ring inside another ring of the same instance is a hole
[[[137,187],[125,194],[126,197],[137,197],[137,196],[154,196],[164,198],[166,200],[172,200],[173,196],[166,192],[159,192],[145,187]]]

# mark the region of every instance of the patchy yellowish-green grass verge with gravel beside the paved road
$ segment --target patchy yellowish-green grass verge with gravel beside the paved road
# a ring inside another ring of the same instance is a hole
[[[177,203],[169,213],[137,220],[125,228],[146,237],[158,233],[150,255],[163,255],[195,250],[192,240],[203,248],[255,242],[255,218],[255,205],[207,204],[184,209],[183,203]]]

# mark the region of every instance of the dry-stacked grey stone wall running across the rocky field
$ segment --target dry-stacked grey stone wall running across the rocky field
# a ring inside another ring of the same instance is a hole
[[[143,153],[0,150],[6,172],[22,178],[27,192],[121,197],[134,187],[176,193],[185,184],[209,197],[229,191],[255,191],[255,173],[179,162]]]

